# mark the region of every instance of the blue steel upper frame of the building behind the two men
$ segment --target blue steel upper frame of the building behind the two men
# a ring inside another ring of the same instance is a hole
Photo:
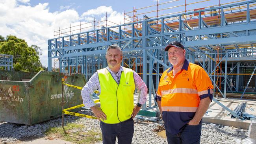
[[[254,18],[252,13],[250,13],[254,9],[250,7],[253,7],[255,4],[256,0],[252,0],[239,4],[148,19],[141,22],[132,22],[50,39],[48,40],[48,67],[51,66],[51,59],[68,57],[67,62],[63,63],[62,67],[76,67],[75,63],[79,63],[78,66],[84,65],[83,73],[89,78],[89,76],[95,72],[96,68],[100,67],[99,65],[98,67],[93,65],[99,63],[99,60],[97,60],[98,57],[104,59],[106,48],[111,44],[118,44],[123,49],[124,57],[127,59],[136,57],[136,69],[139,65],[138,63],[143,63],[143,80],[147,83],[148,79],[147,84],[152,86],[150,89],[153,87],[157,89],[157,85],[152,81],[155,78],[154,76],[161,76],[159,73],[161,66],[163,70],[166,70],[166,68],[170,66],[167,55],[162,49],[171,41],[180,41],[186,47],[186,56],[191,62],[200,61],[202,59],[203,64],[201,64],[203,67],[207,68],[208,72],[214,72],[214,74],[211,75],[214,83],[217,77],[223,77],[225,83],[227,83],[227,76],[217,76],[217,74],[215,74],[215,70],[221,62],[225,61],[226,63],[232,60],[247,61],[256,59],[256,55],[254,54],[256,51],[256,39],[254,38],[256,36],[256,21],[250,20]],[[228,11],[227,9],[241,5],[246,6],[245,10],[242,9],[242,12],[246,11],[247,14],[245,18],[246,22],[234,21],[234,24],[231,24],[232,22],[230,22],[227,15],[238,12]],[[221,17],[219,17],[219,13],[217,13],[219,9],[222,10],[220,13]],[[216,12],[213,13],[215,15],[207,14],[214,11]],[[184,15],[194,15],[195,13],[199,13],[199,15],[197,18],[193,17],[191,20],[197,20],[197,24],[191,24],[189,23],[190,19],[184,17]],[[204,13],[204,15],[201,15],[201,13]],[[250,14],[253,17],[250,17]],[[210,24],[207,18],[209,19],[211,17],[221,20],[221,24]],[[157,28],[152,25],[154,22],[156,23],[156,21],[159,22]],[[114,29],[118,30],[113,31]],[[251,44],[251,46],[240,48],[242,47],[241,44]],[[249,47],[252,48],[250,48],[248,52]],[[225,52],[226,54],[219,63],[215,62],[217,59],[217,49],[219,49],[219,54],[221,54],[221,52]],[[150,51],[156,52],[156,55],[150,54]],[[211,59],[205,57],[205,54],[211,55]],[[72,57],[84,57],[84,59],[82,62],[75,62],[72,60]],[[137,58],[141,58],[141,62],[138,62],[137,60],[139,59]],[[148,59],[150,61],[148,61]],[[72,63],[69,63],[69,61],[72,61]],[[156,63],[156,66],[154,63]],[[134,63],[128,61],[128,65],[131,66],[134,65]],[[152,74],[155,71],[157,74]],[[143,109],[145,109],[145,106],[143,106]]]

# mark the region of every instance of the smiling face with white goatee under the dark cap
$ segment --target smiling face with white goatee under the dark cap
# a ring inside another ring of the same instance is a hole
[[[172,46],[168,50],[169,62],[175,67],[184,63],[186,51],[182,48],[175,48]]]

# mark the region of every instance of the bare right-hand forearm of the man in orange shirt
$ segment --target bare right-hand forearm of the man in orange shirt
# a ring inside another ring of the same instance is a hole
[[[187,123],[188,125],[198,125],[204,114],[206,113],[209,105],[210,105],[210,97],[206,97],[199,102],[199,106],[197,108],[197,111],[195,113],[195,116],[192,120]]]

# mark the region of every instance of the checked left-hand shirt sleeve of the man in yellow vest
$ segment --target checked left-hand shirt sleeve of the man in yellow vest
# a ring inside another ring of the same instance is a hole
[[[85,107],[93,107],[95,103],[92,98],[93,92],[98,89],[100,92],[100,82],[98,79],[98,73],[95,72],[93,76],[89,79],[89,81],[85,84],[83,89],[81,90],[81,95],[83,99],[83,104]]]

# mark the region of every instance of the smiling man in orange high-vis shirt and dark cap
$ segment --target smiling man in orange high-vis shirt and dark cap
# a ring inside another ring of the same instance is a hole
[[[171,68],[163,72],[156,100],[162,114],[168,144],[199,144],[202,116],[213,97],[206,71],[185,58],[177,41],[165,47]]]

